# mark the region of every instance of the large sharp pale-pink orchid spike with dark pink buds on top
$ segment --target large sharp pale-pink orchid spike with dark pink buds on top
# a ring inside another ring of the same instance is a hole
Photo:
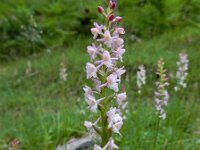
[[[92,46],[87,47],[90,62],[86,63],[87,79],[94,83],[94,87],[84,87],[85,101],[88,109],[95,113],[100,112],[100,119],[92,123],[85,121],[90,133],[97,133],[101,137],[100,146],[95,145],[94,150],[118,149],[114,143],[113,134],[121,136],[123,125],[123,110],[126,108],[126,92],[120,87],[121,76],[126,72],[123,62],[124,28],[118,27],[121,17],[115,17],[116,1],[109,1],[107,9],[98,7],[98,12],[104,16],[106,25],[94,23],[91,29]]]

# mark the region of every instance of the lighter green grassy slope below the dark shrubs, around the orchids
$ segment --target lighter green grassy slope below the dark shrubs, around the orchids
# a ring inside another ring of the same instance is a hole
[[[124,65],[129,108],[119,139],[121,149],[146,150],[154,143],[157,122],[154,108],[156,63],[163,57],[170,81],[170,104],[167,119],[161,123],[156,149],[200,149],[200,40],[199,28],[190,26],[165,32],[149,40],[134,42],[127,37]],[[92,117],[86,111],[82,88],[85,63],[89,59],[85,47],[90,39],[79,36],[70,45],[45,50],[28,58],[0,65],[0,145],[17,139],[22,149],[55,149],[71,137],[86,133],[85,119]],[[189,55],[187,89],[175,93],[173,76],[178,54]],[[68,77],[59,78],[62,59],[67,65]],[[27,62],[31,71],[26,73]],[[147,84],[139,96],[136,88],[137,67],[147,69]],[[4,148],[3,148],[4,147]]]

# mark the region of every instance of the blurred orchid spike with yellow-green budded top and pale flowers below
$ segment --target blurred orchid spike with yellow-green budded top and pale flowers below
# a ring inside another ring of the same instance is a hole
[[[157,75],[159,76],[159,81],[156,82],[157,91],[155,92],[155,106],[159,117],[165,119],[166,113],[164,107],[167,106],[169,101],[169,93],[166,87],[169,83],[167,82],[163,59],[160,59],[158,62]]]

